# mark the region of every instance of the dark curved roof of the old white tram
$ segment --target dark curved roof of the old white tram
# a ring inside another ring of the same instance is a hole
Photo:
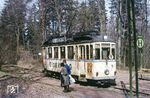
[[[100,35],[97,31],[77,32],[69,36],[51,36],[43,47],[53,45],[69,45],[92,42],[114,42],[110,36]]]

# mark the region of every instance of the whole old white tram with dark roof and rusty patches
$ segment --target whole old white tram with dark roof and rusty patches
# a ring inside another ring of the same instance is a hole
[[[76,81],[115,84],[116,44],[108,36],[91,31],[71,38],[51,38],[42,51],[46,73],[59,75],[65,59]]]

